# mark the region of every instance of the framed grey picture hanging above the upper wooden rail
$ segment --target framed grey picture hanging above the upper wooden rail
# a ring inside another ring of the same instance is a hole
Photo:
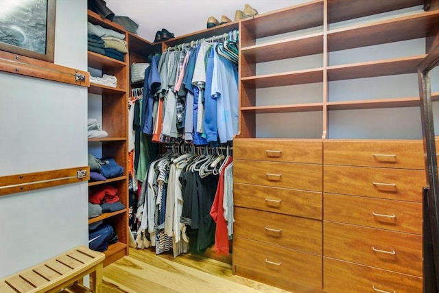
[[[0,0],[0,50],[54,62],[56,0]]]

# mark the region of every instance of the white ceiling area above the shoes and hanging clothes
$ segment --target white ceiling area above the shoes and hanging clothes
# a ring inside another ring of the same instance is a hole
[[[139,23],[137,34],[154,41],[163,27],[175,36],[206,29],[209,16],[220,21],[224,14],[232,21],[236,10],[248,3],[259,14],[286,8],[308,0],[106,0],[106,5],[119,16]]]

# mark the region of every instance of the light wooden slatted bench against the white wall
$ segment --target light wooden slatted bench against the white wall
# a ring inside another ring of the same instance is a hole
[[[105,255],[78,246],[33,268],[0,279],[1,293],[102,292]],[[90,274],[92,288],[82,285]]]

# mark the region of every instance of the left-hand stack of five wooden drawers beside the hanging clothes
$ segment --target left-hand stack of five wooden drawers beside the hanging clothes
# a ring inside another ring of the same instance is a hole
[[[233,272],[321,292],[322,141],[236,139],[233,149]]]

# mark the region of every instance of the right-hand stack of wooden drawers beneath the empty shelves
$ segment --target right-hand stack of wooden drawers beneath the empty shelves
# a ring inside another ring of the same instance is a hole
[[[324,292],[423,292],[422,141],[323,143]]]

